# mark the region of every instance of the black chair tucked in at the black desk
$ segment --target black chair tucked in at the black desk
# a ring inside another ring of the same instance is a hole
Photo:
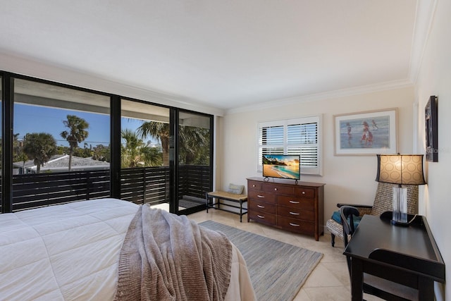
[[[389,214],[385,214],[387,218],[388,215]],[[352,206],[340,207],[340,217],[343,226],[343,240],[345,241],[345,246],[347,246],[347,243],[352,238],[352,235],[354,235],[355,232],[354,216],[359,216],[359,210],[357,210],[357,208]],[[352,282],[352,271],[351,271],[352,258],[350,256],[347,256],[346,261],[347,261],[347,269],[350,273],[350,278]],[[364,293],[367,293],[369,295],[375,295],[376,297],[380,297],[384,300],[390,301],[419,300],[418,290],[367,273],[364,273],[363,289]]]

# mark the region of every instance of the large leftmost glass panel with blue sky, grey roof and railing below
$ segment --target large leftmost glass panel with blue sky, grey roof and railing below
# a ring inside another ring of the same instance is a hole
[[[13,83],[12,211],[109,197],[110,97]]]

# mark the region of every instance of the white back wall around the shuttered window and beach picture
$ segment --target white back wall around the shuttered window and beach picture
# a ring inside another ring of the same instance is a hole
[[[334,156],[333,115],[397,108],[397,151],[413,152],[414,88],[406,87],[348,97],[298,102],[271,109],[230,113],[223,117],[223,158],[218,157],[219,185],[246,185],[257,173],[257,123],[299,116],[323,115],[323,176],[301,176],[302,181],[326,183],[324,218],[337,203],[373,204],[377,182],[376,156]],[[218,188],[221,188],[218,187]],[[325,221],[326,222],[326,221]]]

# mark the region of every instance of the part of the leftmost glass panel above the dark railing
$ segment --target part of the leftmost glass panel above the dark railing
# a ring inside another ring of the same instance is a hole
[[[13,174],[109,170],[110,97],[14,84]]]

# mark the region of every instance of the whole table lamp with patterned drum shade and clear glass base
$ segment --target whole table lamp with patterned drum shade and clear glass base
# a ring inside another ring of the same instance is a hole
[[[407,188],[402,185],[424,185],[422,154],[378,154],[376,181],[393,186],[393,217],[395,225],[408,225]]]

